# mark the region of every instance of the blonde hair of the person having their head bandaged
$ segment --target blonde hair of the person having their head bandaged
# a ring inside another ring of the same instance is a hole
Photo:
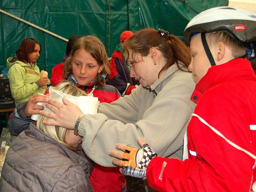
[[[63,81],[62,83],[60,83],[58,86],[55,87],[55,90],[58,90],[63,93],[73,95],[76,97],[87,95],[84,91],[80,90],[74,84],[67,81]],[[40,116],[36,124],[37,129],[51,136],[56,141],[65,145],[66,147],[74,150],[74,148],[72,148],[72,146],[66,142],[66,137],[68,133],[66,128],[59,127],[59,126],[45,125],[43,124],[43,120],[53,121],[53,119],[51,118]]]

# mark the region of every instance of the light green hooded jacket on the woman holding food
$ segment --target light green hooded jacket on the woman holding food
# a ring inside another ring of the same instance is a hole
[[[12,97],[16,105],[28,101],[31,96],[38,93],[44,94],[45,89],[36,83],[41,78],[36,64],[32,63],[30,67],[16,57],[9,57],[7,69]]]

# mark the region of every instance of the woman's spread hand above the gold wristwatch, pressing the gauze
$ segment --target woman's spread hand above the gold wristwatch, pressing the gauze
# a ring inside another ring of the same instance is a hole
[[[62,101],[65,105],[56,100],[49,100],[48,103],[45,103],[45,106],[52,110],[55,114],[46,111],[40,111],[40,115],[49,117],[55,121],[43,121],[43,124],[60,126],[66,129],[74,129],[78,116],[83,112],[77,105],[71,103],[65,98],[63,98]]]

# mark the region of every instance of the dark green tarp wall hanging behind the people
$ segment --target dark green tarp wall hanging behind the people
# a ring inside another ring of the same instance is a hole
[[[109,57],[124,30],[163,28],[182,38],[185,26],[197,13],[227,5],[228,0],[0,0],[0,9],[64,38],[99,37]],[[25,37],[33,37],[41,44],[38,66],[51,76],[52,67],[62,61],[66,42],[3,13],[0,14],[0,70]]]

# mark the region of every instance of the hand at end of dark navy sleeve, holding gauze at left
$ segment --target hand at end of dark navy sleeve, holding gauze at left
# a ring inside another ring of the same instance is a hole
[[[37,94],[37,95],[30,97],[26,106],[23,108],[23,114],[26,117],[30,117],[31,115],[39,114],[39,111],[37,111],[36,109],[43,110],[44,107],[40,106],[40,105],[36,105],[36,103],[40,103],[40,102],[46,103],[46,102],[48,102],[48,100],[49,100],[48,95]]]

